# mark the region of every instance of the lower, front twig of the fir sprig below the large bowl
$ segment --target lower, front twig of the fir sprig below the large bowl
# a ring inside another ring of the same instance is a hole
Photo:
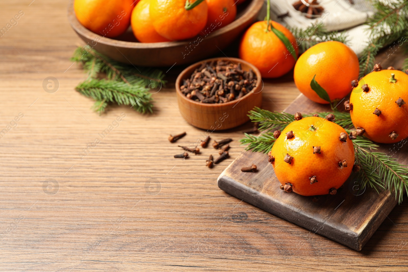
[[[115,102],[118,105],[132,105],[140,113],[153,112],[153,104],[149,89],[137,85],[129,85],[115,80],[89,79],[80,83],[76,88],[86,97],[96,100],[93,108],[102,113],[107,102]]]

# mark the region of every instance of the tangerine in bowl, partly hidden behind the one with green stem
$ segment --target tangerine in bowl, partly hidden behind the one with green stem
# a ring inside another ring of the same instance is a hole
[[[168,42],[157,33],[150,20],[150,0],[140,0],[132,11],[131,26],[133,34],[140,42]]]

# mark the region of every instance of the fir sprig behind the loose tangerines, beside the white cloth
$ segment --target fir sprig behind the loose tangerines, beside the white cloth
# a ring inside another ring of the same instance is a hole
[[[345,31],[326,31],[322,25],[312,25],[307,29],[290,28],[295,36],[299,51],[304,52],[319,42],[337,41],[347,44],[348,36]]]

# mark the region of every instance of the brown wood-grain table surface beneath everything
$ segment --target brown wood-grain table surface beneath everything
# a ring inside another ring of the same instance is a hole
[[[9,128],[0,136],[0,271],[408,270],[406,202],[357,252],[220,190],[217,177],[244,149],[250,124],[213,133],[234,139],[231,159],[213,169],[205,167],[213,148],[174,159],[181,152],[170,133],[186,131],[178,142],[186,145],[204,133],[177,110],[180,67],[153,95],[152,115],[127,106],[93,113],[74,90],[85,75],[69,60],[82,44],[67,22],[69,1],[31,1],[0,4],[1,28],[24,12],[0,38],[0,130]],[[42,87],[50,76],[55,93]],[[265,80],[262,106],[280,111],[297,95],[291,75]]]

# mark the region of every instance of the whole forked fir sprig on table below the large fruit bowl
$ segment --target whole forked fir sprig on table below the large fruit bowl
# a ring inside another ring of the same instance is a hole
[[[78,47],[71,60],[81,63],[88,74],[87,80],[76,90],[96,100],[92,109],[99,114],[109,103],[132,105],[140,113],[152,112],[153,99],[149,91],[166,83],[160,70],[117,62],[90,46]],[[100,73],[104,73],[106,79],[99,79]]]

